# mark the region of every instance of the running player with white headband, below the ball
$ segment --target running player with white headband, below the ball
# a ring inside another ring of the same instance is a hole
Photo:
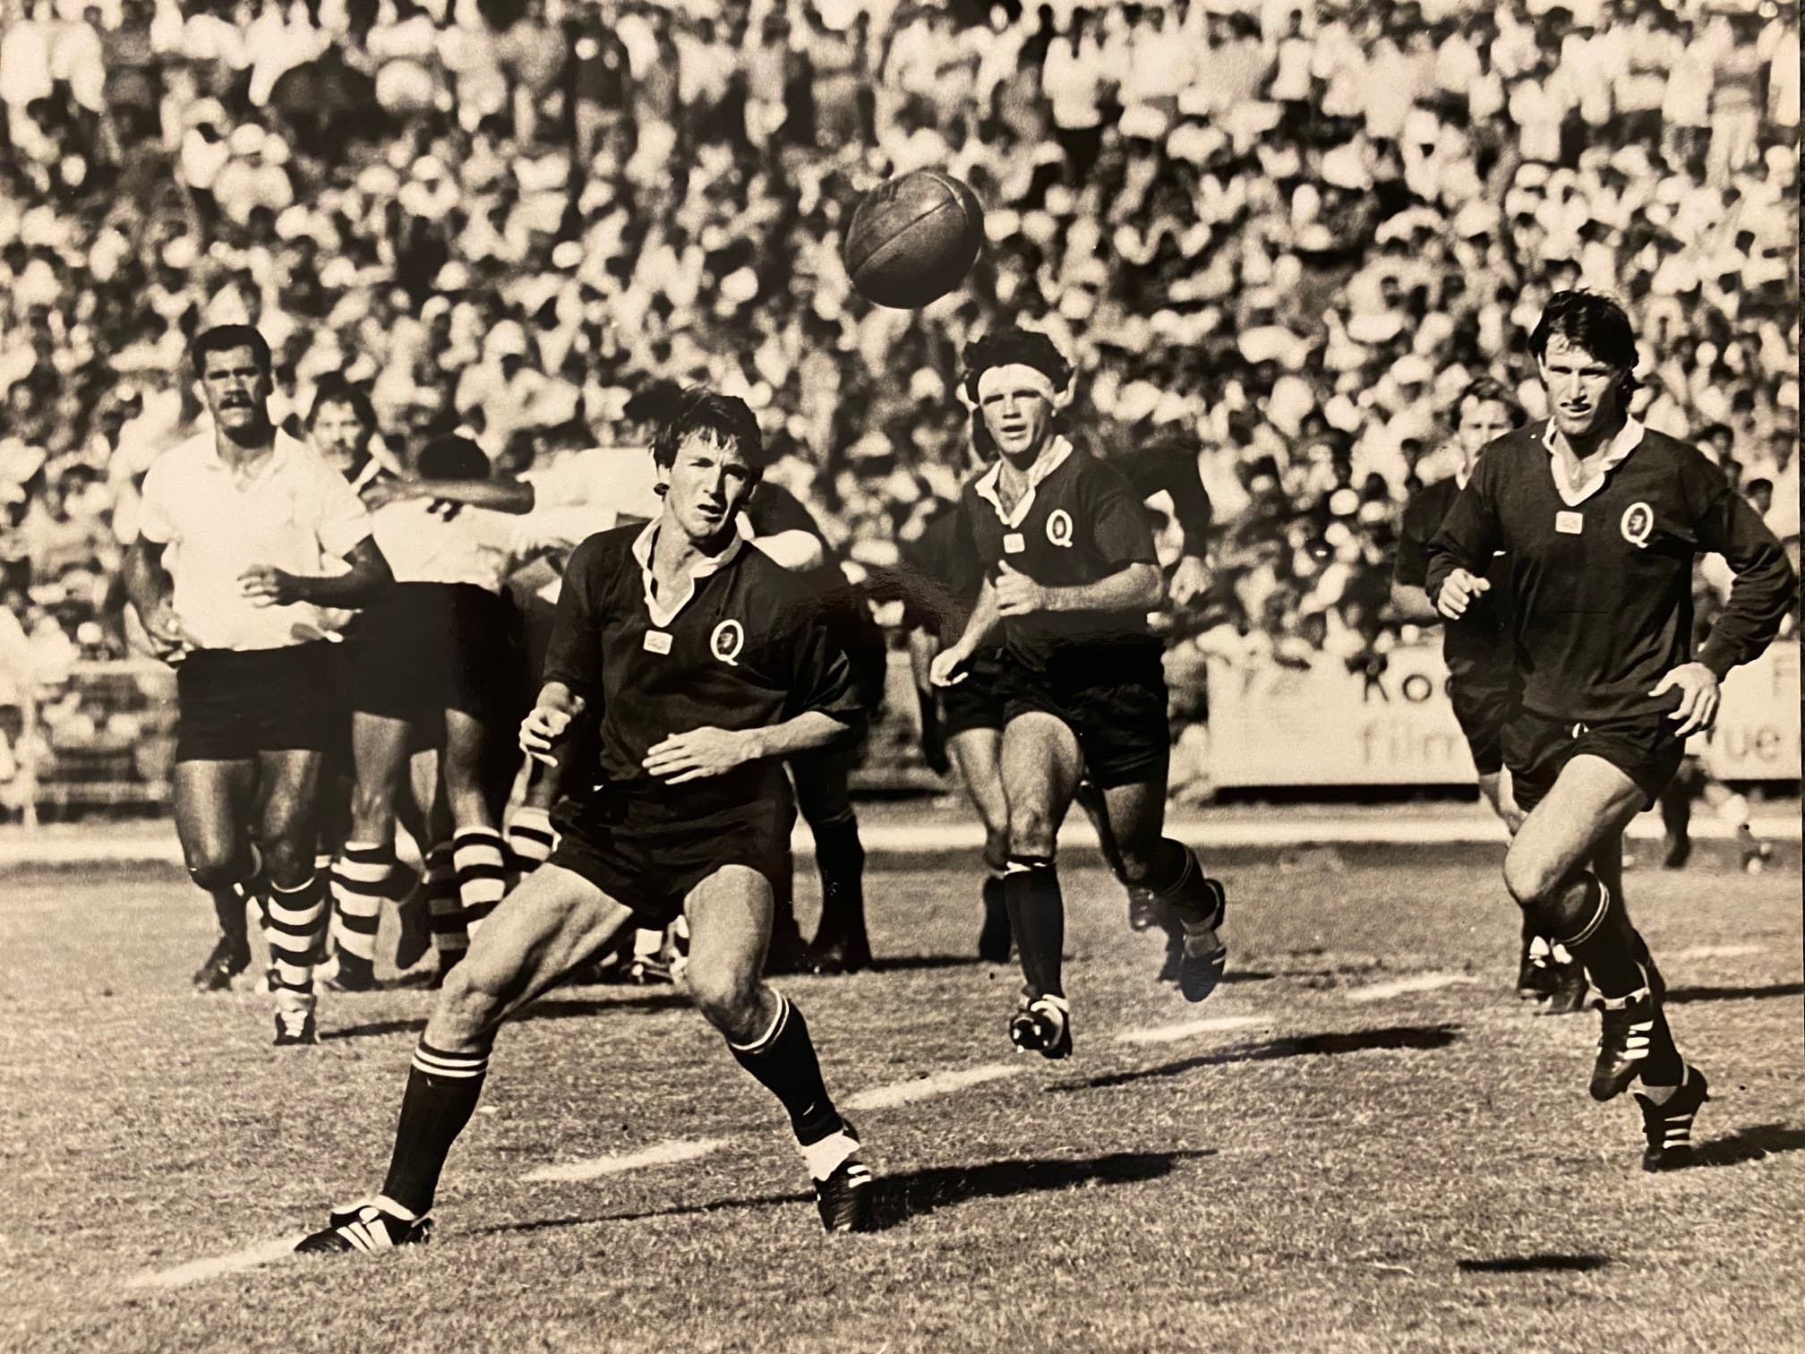
[[[1061,430],[1072,368],[1047,336],[1000,330],[967,345],[964,359],[966,394],[998,455],[962,495],[984,585],[931,679],[957,684],[1000,630],[991,681],[1004,704],[1004,903],[1025,977],[1009,1036],[1018,1049],[1065,1058],[1072,1029],[1054,847],[1079,776],[1103,796],[1123,879],[1182,923],[1179,986],[1193,1002],[1222,977],[1226,895],[1188,847],[1162,834],[1171,744],[1146,614],[1164,601],[1164,583],[1141,498]]]

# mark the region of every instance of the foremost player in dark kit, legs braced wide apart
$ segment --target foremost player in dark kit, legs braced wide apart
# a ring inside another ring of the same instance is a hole
[[[383,1192],[336,1211],[301,1251],[426,1240],[496,1027],[623,926],[679,912],[690,995],[789,1112],[823,1224],[872,1224],[857,1134],[828,1099],[801,1011],[760,977],[794,821],[782,758],[856,735],[850,664],[807,592],[735,525],[764,462],[751,410],[686,394],[653,455],[670,486],[661,515],[572,554],[545,686],[520,731],[532,756],[572,747],[558,849],[446,978]]]

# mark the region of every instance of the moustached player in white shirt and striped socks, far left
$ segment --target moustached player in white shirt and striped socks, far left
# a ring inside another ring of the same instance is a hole
[[[314,812],[339,719],[319,608],[377,599],[390,572],[345,478],[271,424],[264,336],[208,329],[191,359],[213,428],[144,477],[125,589],[150,643],[179,661],[175,830],[224,932],[197,977],[226,986],[251,962],[244,899],[260,850],[276,1043],[314,1043],[312,968],[327,928]],[[327,576],[336,560],[348,570]]]

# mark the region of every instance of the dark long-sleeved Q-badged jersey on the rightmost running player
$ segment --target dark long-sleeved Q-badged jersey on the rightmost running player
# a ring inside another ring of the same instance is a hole
[[[1699,661],[1722,677],[1756,657],[1791,607],[1792,567],[1724,473],[1630,421],[1592,482],[1563,495],[1547,435],[1534,422],[1486,448],[1428,574],[1435,598],[1457,567],[1509,554],[1523,704],[1576,720],[1673,709],[1679,691],[1648,693],[1691,657],[1693,560],[1713,551],[1736,583]]]

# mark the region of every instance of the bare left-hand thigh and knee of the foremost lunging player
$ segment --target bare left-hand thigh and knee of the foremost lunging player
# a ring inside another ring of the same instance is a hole
[[[426,1042],[464,1051],[608,944],[634,913],[583,876],[542,865],[502,899],[439,993]]]

